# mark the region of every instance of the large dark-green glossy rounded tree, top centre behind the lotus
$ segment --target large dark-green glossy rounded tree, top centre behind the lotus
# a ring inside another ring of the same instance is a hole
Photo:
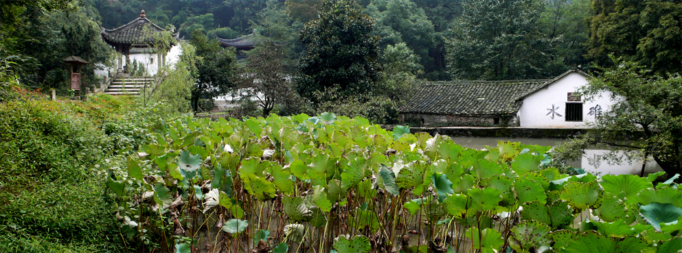
[[[379,38],[371,35],[374,20],[356,9],[353,0],[325,1],[319,16],[300,34],[307,52],[297,77],[299,94],[317,102],[313,93],[333,86],[345,94],[373,91],[379,75]]]

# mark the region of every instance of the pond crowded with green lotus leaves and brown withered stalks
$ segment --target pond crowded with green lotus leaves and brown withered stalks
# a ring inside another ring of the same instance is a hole
[[[328,113],[163,128],[106,182],[141,252],[682,249],[677,176],[571,176],[550,147],[469,149]]]

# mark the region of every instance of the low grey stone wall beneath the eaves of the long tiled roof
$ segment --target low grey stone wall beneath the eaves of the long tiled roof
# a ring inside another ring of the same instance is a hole
[[[412,126],[447,127],[447,126],[516,126],[516,117],[498,115],[436,115],[402,113],[400,121]]]

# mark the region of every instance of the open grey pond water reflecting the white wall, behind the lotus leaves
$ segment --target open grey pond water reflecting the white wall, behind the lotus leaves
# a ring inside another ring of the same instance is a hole
[[[490,147],[497,146],[497,141],[512,141],[515,143],[528,144],[528,145],[543,145],[552,146],[558,143],[565,143],[568,140],[565,138],[505,138],[505,137],[464,137],[457,136],[451,137],[453,141],[464,147],[470,147],[474,149],[483,149],[486,145]],[[609,150],[604,149],[587,149],[582,156],[581,160],[576,160],[569,162],[569,165],[582,168],[585,171],[591,173],[600,173],[601,175],[613,174],[633,174],[639,175],[641,171],[641,160],[635,162],[622,161],[620,164],[609,164],[606,160],[602,159],[604,154],[608,153]],[[653,158],[649,158],[646,162],[646,167],[644,167],[644,174],[655,173],[658,171],[663,171],[661,167],[656,163]]]

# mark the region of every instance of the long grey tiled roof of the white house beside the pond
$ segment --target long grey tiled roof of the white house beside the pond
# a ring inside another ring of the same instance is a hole
[[[551,80],[429,82],[400,108],[401,113],[509,115],[521,108],[519,97]]]

